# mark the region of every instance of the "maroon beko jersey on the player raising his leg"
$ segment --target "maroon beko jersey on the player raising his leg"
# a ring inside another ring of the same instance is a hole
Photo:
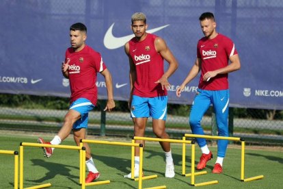
[[[67,59],[70,59],[68,68],[70,103],[79,98],[85,98],[96,105],[96,76],[98,72],[102,72],[106,68],[100,53],[87,45],[79,52],[75,52],[70,47],[66,50],[65,62]]]

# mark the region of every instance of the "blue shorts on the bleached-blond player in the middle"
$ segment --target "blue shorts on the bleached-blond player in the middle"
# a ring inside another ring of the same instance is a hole
[[[166,120],[167,96],[161,97],[138,97],[133,95],[131,104],[132,118],[148,118]]]

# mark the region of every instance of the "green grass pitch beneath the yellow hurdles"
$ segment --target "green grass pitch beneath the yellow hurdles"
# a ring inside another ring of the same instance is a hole
[[[47,140],[51,136],[45,136]],[[124,141],[121,138],[96,138],[99,140]],[[18,151],[20,142],[36,142],[37,136],[27,134],[0,134],[0,149]],[[126,140],[131,142],[130,140]],[[69,137],[63,144],[74,145]],[[110,184],[88,186],[87,188],[137,188],[137,181],[124,179],[131,170],[131,147],[119,147],[106,144],[90,144],[92,155],[100,179],[111,181]],[[187,173],[190,171],[190,149],[187,147]],[[215,157],[217,148],[210,146]],[[146,142],[144,151],[144,174],[158,175],[156,179],[143,181],[143,188],[165,185],[167,188],[193,188],[191,178],[182,176],[182,146],[172,144],[176,176],[174,179],[164,177],[164,153],[158,142]],[[200,149],[196,147],[196,161],[200,157]],[[242,182],[241,176],[241,147],[230,145],[224,160],[224,173],[211,173],[216,158],[208,162],[206,175],[196,176],[196,184],[204,181],[218,180],[219,184],[204,186],[205,188],[280,188],[283,181],[283,153],[282,149],[251,149],[245,150],[245,178],[264,175],[256,181]],[[24,188],[51,183],[51,188],[81,188],[79,186],[79,153],[73,150],[55,149],[54,155],[46,159],[42,149],[25,147],[24,152]],[[0,154],[0,188],[13,188],[14,157]]]

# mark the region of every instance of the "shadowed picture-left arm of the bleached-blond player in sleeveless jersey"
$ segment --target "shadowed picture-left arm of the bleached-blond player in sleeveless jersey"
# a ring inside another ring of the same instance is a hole
[[[129,97],[129,108],[131,108],[131,102],[132,102],[132,96],[133,96],[133,88],[135,84],[135,79],[137,78],[137,74],[135,71],[135,64],[133,63],[133,60],[129,54],[129,42],[126,43],[124,46],[124,50],[126,55],[128,55],[129,58],[129,65],[130,65],[130,71],[129,71],[129,79],[130,79],[130,97]]]

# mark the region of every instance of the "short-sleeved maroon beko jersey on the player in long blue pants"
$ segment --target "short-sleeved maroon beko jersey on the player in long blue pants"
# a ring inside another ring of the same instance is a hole
[[[219,74],[209,81],[203,81],[203,75],[208,71],[215,71],[228,66],[229,57],[236,55],[237,50],[230,38],[218,34],[213,39],[206,37],[198,41],[197,57],[202,59],[202,72],[198,88],[204,90],[226,90],[229,88],[228,73]]]

